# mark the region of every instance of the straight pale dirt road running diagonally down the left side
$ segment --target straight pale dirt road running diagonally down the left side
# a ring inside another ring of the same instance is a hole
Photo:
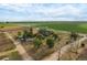
[[[29,56],[24,47],[19,42],[14,41],[11,34],[9,34],[8,32],[4,32],[4,34],[13,42],[13,44],[17,46],[19,54],[22,56],[24,61],[33,61],[33,58]]]

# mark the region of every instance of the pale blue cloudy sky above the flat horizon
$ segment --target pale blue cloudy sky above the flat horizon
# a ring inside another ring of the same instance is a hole
[[[87,21],[87,4],[0,3],[0,21]]]

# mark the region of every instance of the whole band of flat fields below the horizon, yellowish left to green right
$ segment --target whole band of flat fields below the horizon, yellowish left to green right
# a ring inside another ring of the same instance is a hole
[[[12,25],[23,25],[23,26],[39,26],[39,28],[50,28],[54,30],[70,31],[87,33],[86,22],[18,22],[18,23],[0,23],[0,26],[12,26]]]

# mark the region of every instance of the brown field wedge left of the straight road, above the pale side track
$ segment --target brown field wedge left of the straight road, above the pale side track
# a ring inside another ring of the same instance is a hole
[[[3,33],[0,33],[0,53],[13,50],[15,46]]]

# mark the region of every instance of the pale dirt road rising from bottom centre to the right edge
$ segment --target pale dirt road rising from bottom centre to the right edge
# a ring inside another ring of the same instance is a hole
[[[87,40],[87,37],[85,36],[85,37],[80,39],[79,41],[76,41],[72,44],[78,44],[78,43],[80,44],[84,40]],[[61,54],[66,53],[69,48],[70,48],[70,44],[63,46],[61,48]],[[58,52],[59,52],[59,50],[54,52],[50,56],[44,57],[42,61],[56,61],[56,59],[58,59]]]

